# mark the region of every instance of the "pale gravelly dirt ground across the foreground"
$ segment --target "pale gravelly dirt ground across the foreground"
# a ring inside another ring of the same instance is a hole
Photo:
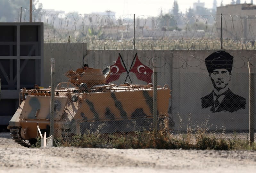
[[[0,168],[0,173],[255,172],[256,151],[25,148],[3,132]]]

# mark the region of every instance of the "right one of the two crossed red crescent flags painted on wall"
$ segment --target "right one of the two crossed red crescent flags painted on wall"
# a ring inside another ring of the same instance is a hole
[[[152,76],[153,70],[151,70],[149,67],[141,63],[138,58],[138,55],[136,55],[134,66],[131,68],[130,72],[135,73],[136,77],[139,80],[143,80],[147,82],[147,84],[152,83],[151,76]]]

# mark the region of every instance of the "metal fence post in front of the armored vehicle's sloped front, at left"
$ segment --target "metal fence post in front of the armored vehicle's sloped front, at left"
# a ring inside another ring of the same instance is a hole
[[[54,72],[55,61],[51,58],[51,104],[50,104],[50,136],[54,134]]]

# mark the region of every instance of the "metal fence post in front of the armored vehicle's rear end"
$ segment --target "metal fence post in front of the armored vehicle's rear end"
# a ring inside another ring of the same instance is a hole
[[[157,129],[157,58],[153,58],[153,129]]]

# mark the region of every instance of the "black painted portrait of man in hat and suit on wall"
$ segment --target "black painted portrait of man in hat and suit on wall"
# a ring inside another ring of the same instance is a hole
[[[201,108],[210,107],[211,112],[235,112],[245,109],[246,99],[234,94],[228,88],[232,76],[233,58],[225,51],[214,52],[205,58],[213,91],[201,98]]]

